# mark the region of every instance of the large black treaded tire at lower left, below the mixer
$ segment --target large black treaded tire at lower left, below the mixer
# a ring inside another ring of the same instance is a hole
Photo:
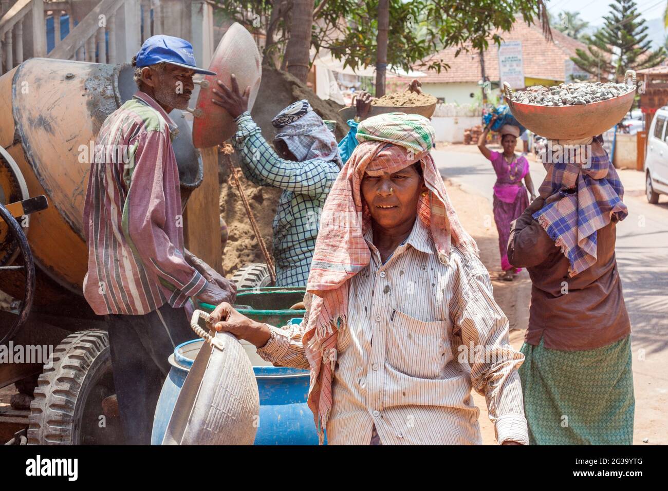
[[[102,399],[115,392],[108,334],[72,333],[49,362],[30,404],[28,444],[122,444],[120,418],[102,414]]]

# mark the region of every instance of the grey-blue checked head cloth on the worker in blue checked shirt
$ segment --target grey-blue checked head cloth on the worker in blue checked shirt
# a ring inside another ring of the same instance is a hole
[[[303,99],[291,104],[279,112],[271,124],[277,128],[274,140],[283,140],[299,162],[336,160],[339,168],[343,165],[334,134],[313,112],[309,101]]]

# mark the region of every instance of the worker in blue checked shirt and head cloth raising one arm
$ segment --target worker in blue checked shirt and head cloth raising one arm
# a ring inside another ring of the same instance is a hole
[[[232,90],[218,81],[213,102],[236,118],[232,144],[238,150],[244,176],[260,186],[283,190],[273,223],[277,286],[305,286],[318,234],[320,212],[341,168],[332,132],[307,100],[281,111],[274,151],[248,112],[248,94],[240,94],[232,75]]]

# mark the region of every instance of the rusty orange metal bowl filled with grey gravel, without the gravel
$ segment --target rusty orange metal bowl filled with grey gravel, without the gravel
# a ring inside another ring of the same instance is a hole
[[[633,87],[627,94],[607,101],[577,106],[521,104],[512,101],[510,87],[504,84],[506,102],[516,120],[534,134],[548,140],[581,140],[609,130],[629,112],[636,89],[635,72],[629,72],[627,76],[633,75]]]

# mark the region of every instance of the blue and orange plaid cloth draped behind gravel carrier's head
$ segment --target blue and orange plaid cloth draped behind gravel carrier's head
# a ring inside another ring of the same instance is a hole
[[[593,139],[589,158],[577,152],[572,162],[545,164],[547,176],[540,186],[542,198],[559,193],[561,198],[533,214],[542,228],[561,248],[574,277],[597,261],[597,230],[610,223],[613,215],[623,220],[629,214],[622,202],[624,186],[603,148],[603,138]],[[589,160],[591,158],[591,160]]]

